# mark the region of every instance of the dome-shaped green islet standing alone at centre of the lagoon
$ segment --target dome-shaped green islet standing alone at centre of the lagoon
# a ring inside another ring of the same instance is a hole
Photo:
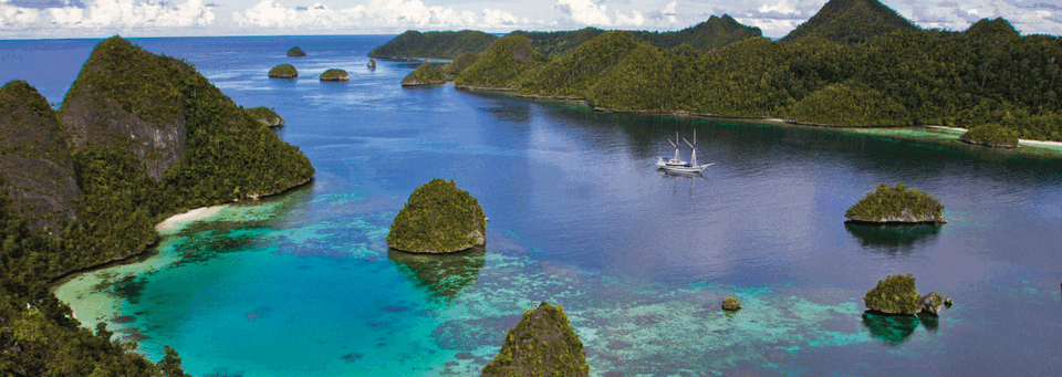
[[[451,253],[486,244],[487,217],[479,201],[454,181],[433,179],[395,216],[387,244],[414,253]]]

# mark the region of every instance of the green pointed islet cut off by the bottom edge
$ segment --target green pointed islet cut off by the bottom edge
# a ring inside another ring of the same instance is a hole
[[[590,376],[590,365],[564,308],[542,302],[523,311],[481,376]]]

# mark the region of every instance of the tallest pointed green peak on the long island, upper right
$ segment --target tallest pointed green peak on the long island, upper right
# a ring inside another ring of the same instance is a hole
[[[808,22],[789,32],[784,42],[824,39],[863,42],[895,31],[918,30],[913,22],[877,0],[830,0]]]

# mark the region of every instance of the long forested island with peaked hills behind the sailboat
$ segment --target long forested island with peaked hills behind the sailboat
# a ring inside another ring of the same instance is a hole
[[[922,29],[877,0],[830,0],[778,41],[757,31],[726,14],[679,32],[514,31],[486,50],[461,50],[479,57],[452,75],[458,88],[608,112],[830,127],[1004,124],[1017,138],[1062,142],[1055,36],[1021,35],[1004,19]],[[416,34],[403,35],[409,53],[389,55],[424,55]]]

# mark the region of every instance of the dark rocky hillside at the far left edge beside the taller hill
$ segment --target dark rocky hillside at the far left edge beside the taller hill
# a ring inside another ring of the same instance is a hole
[[[0,177],[32,231],[60,231],[76,221],[73,163],[48,100],[24,81],[0,88]]]

